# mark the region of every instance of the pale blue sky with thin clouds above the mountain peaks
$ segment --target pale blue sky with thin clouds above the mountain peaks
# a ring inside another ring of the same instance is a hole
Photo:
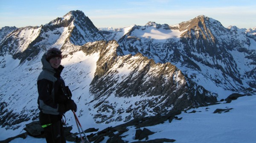
[[[175,25],[205,15],[239,28],[256,27],[255,0],[0,0],[0,27],[40,26],[81,10],[97,28]]]

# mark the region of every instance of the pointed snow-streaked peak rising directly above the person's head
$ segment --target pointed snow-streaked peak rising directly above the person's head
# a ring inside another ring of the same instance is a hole
[[[104,40],[104,37],[90,19],[81,11],[70,11],[44,26],[17,29],[1,43],[0,55],[11,54],[22,63],[47,47],[61,48],[65,43],[81,46],[96,40]]]

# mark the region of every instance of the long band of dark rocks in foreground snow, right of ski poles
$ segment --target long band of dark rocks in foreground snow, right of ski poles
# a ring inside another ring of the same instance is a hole
[[[128,143],[128,141],[125,141],[122,139],[124,137],[122,134],[128,131],[128,127],[135,126],[137,128],[137,131],[135,132],[136,140],[142,140],[146,138],[146,141],[138,141],[134,143],[164,143],[164,142],[174,142],[173,139],[155,139],[155,140],[148,140],[147,137],[151,134],[154,134],[154,132],[151,132],[150,130],[146,129],[146,126],[154,126],[160,123],[165,122],[166,120],[169,120],[169,123],[172,122],[174,118],[177,118],[176,115],[180,114],[180,112],[172,111],[169,112],[169,114],[166,115],[156,115],[151,117],[141,117],[136,118],[133,120],[130,120],[127,123],[115,126],[115,127],[108,127],[102,131],[99,131],[95,134],[88,135],[88,139],[90,142],[99,143],[100,141],[104,140],[105,137],[109,137],[108,143]],[[143,129],[140,129],[143,128]],[[116,133],[117,132],[117,133]],[[115,134],[114,134],[115,133]]]

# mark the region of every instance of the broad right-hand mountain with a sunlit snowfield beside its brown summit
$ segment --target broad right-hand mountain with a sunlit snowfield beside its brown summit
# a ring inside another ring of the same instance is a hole
[[[140,52],[157,63],[170,62],[220,99],[227,94],[222,91],[243,92],[256,87],[256,36],[246,29],[224,28],[204,15],[175,26],[148,22],[125,29],[112,34],[126,31],[118,39],[118,55]]]

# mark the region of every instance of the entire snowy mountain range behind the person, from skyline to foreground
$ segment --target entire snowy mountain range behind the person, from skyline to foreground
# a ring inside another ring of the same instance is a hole
[[[7,31],[0,31],[0,125],[6,136],[38,120],[36,81],[51,47],[63,51],[62,77],[79,118],[93,120],[92,126],[256,92],[256,35],[204,15],[175,26],[148,22],[99,31],[82,11],[70,11],[40,27]],[[75,125],[71,113],[66,117]]]

